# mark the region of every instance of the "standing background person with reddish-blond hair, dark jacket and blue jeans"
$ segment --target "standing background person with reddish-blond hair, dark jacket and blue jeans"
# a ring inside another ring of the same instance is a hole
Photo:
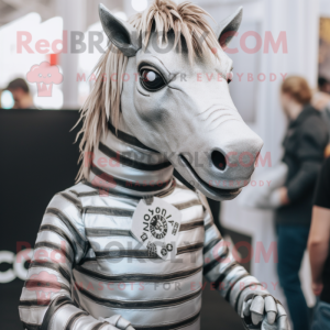
[[[283,162],[288,172],[283,187],[275,190],[279,207],[275,211],[278,235],[278,277],[295,330],[309,329],[299,270],[307,248],[312,193],[323,162],[328,129],[320,111],[310,106],[311,90],[302,77],[284,80],[280,101],[289,124],[283,142]]]

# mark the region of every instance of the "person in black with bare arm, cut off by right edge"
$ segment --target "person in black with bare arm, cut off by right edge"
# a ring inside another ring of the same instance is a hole
[[[311,288],[320,300],[316,306],[311,330],[330,329],[330,158],[324,162],[315,191],[308,251]]]

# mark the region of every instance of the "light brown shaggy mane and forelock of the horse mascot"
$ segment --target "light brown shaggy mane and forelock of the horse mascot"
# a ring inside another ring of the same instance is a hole
[[[212,53],[217,54],[220,47],[206,20],[207,15],[206,11],[190,2],[176,4],[170,0],[155,0],[147,10],[135,14],[129,22],[141,33],[144,46],[147,45],[152,33],[157,33],[161,43],[163,40],[166,42],[167,32],[173,31],[174,47],[180,50],[184,40],[188,59],[193,63],[194,57],[209,57]],[[118,125],[123,81],[122,79],[113,81],[114,79],[110,77],[113,74],[122,77],[127,64],[128,57],[111,44],[94,70],[97,79],[80,111],[79,121],[82,121],[82,129],[77,139],[82,134],[79,144],[81,166],[77,182],[88,178],[90,166],[86,164],[90,162],[84,160],[90,157],[97,148],[100,136],[107,131],[108,120],[111,120],[114,127]]]

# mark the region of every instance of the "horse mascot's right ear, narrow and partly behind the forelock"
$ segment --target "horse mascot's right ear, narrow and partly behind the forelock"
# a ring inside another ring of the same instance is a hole
[[[224,19],[216,29],[220,46],[223,48],[229,45],[232,37],[238,32],[243,16],[243,7],[240,7],[233,14]]]

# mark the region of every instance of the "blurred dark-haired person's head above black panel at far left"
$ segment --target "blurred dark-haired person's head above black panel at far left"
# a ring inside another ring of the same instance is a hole
[[[6,89],[12,94],[12,97],[15,101],[13,109],[34,108],[30,88],[24,79],[16,78],[10,81]]]

